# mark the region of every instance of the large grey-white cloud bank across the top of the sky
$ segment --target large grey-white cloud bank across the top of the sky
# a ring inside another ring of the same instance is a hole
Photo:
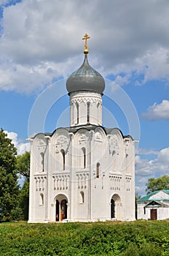
[[[168,15],[165,0],[22,0],[7,5],[1,20],[0,89],[30,93],[66,77],[82,63],[86,31],[90,64],[103,75],[114,75],[121,85],[133,72],[135,83],[168,80]],[[143,79],[137,80],[140,75]]]

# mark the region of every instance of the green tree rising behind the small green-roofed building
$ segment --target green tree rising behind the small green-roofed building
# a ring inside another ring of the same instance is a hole
[[[156,190],[169,189],[169,176],[164,175],[159,178],[149,178],[146,183],[146,194]]]

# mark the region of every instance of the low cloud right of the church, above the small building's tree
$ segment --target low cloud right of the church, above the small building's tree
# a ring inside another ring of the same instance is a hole
[[[147,151],[151,152],[152,150]],[[169,148],[162,148],[162,150],[157,151],[156,158],[151,160],[143,159],[138,155],[135,156],[135,179],[137,183],[135,192],[138,195],[145,195],[146,182],[148,179],[168,174],[168,170]]]

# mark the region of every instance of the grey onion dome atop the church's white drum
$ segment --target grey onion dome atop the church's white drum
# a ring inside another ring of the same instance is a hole
[[[73,91],[95,91],[98,94],[103,94],[104,78],[90,66],[87,55],[84,56],[82,66],[69,76],[66,81],[66,89],[69,94]]]

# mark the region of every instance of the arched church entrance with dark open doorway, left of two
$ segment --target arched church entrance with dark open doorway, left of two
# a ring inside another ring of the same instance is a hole
[[[55,221],[59,222],[67,219],[68,200],[64,195],[58,195],[55,204]]]

